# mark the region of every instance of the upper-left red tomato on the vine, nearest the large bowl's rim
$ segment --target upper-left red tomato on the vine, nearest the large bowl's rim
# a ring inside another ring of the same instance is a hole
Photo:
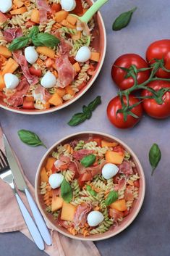
[[[134,79],[132,78],[132,76],[130,76],[129,78],[125,78],[127,72],[119,67],[115,67],[115,65],[126,68],[135,65],[137,69],[148,67],[148,64],[147,62],[145,62],[145,59],[143,59],[142,57],[140,57],[140,55],[137,54],[124,54],[120,56],[118,59],[116,59],[111,69],[111,76],[114,80],[114,83],[116,83],[116,85],[121,90],[126,90],[127,88],[132,87],[134,85]],[[137,83],[140,84],[145,82],[145,80],[148,80],[149,75],[150,70],[145,70],[137,73]]]

